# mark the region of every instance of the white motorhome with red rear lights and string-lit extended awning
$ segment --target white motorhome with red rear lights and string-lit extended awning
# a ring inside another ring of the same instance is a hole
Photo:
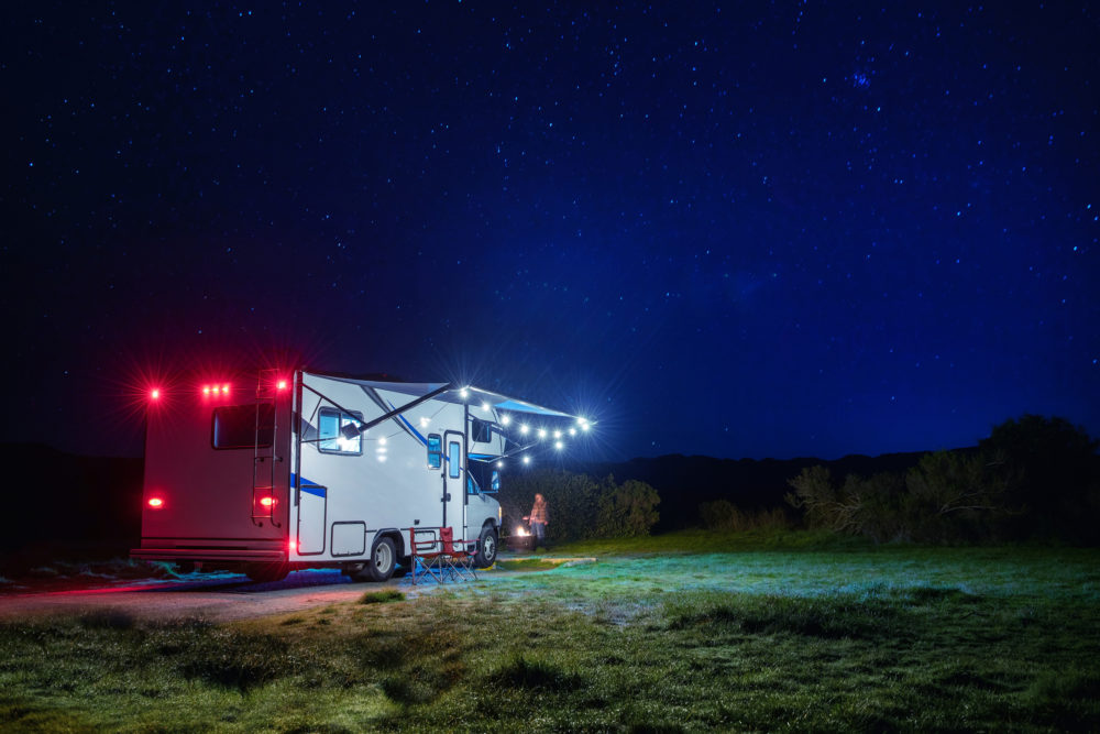
[[[384,581],[410,538],[494,562],[501,471],[588,424],[472,386],[296,370],[207,374],[150,391],[141,547],[256,581],[340,567]]]

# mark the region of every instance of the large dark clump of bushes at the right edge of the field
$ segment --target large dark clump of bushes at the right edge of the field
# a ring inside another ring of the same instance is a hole
[[[810,527],[877,541],[971,541],[1057,537],[1096,544],[1098,442],[1062,418],[1009,420],[975,451],[925,454],[905,474],[849,474],[823,467],[789,484]]]

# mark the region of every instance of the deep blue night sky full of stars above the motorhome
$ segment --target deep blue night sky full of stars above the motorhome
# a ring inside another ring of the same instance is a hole
[[[604,459],[1100,435],[1088,3],[15,4],[0,440],[273,354]]]

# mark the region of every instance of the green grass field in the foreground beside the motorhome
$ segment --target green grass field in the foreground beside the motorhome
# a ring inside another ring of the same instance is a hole
[[[1098,730],[1100,551],[681,533],[246,623],[0,626],[0,728]]]

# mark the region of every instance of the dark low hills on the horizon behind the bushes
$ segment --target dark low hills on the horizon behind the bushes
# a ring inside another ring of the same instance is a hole
[[[966,450],[966,449],[964,449]],[[653,459],[631,459],[619,463],[592,463],[576,467],[595,476],[614,474],[615,480],[646,482],[661,495],[661,519],[657,532],[698,525],[698,505],[727,500],[743,510],[783,506],[783,495],[791,491],[788,480],[806,467],[822,464],[834,479],[848,474],[868,476],[880,472],[903,472],[915,467],[926,451],[884,453],[879,457],[853,454],[843,459],[715,459],[685,457],[679,453]]]

